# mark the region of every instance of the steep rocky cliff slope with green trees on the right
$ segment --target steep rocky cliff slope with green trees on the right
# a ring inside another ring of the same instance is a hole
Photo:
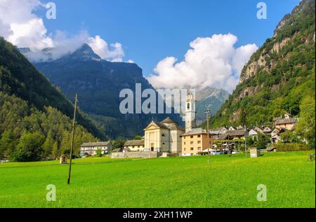
[[[305,95],[315,95],[315,1],[303,0],[285,15],[274,36],[251,56],[239,85],[213,118],[213,125],[270,123],[289,112],[299,115]]]

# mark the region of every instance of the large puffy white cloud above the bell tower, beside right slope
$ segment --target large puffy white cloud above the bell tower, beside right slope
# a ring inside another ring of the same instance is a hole
[[[155,88],[223,88],[231,92],[238,83],[240,71],[257,46],[235,48],[237,37],[214,34],[199,37],[190,43],[185,58],[177,62],[166,57],[157,64],[148,80]]]

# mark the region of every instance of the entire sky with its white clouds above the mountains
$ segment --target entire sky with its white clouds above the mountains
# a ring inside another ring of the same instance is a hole
[[[58,59],[83,43],[105,60],[136,62],[154,88],[232,92],[242,67],[300,0],[0,0],[0,35],[28,47],[32,62]],[[50,55],[43,48],[53,48]],[[48,57],[51,56],[51,57]],[[132,60],[132,61],[131,61]]]

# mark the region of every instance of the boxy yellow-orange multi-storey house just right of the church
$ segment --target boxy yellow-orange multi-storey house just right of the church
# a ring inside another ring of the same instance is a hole
[[[206,148],[212,148],[213,135],[202,128],[193,128],[181,135],[182,155],[199,155]]]

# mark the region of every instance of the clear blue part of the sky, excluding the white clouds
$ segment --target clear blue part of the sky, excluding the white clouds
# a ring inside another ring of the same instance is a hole
[[[268,19],[258,20],[254,0],[55,0],[57,19],[45,20],[56,29],[77,34],[86,29],[107,43],[122,44],[126,60],[135,61],[145,76],[167,56],[183,59],[189,43],[199,36],[234,34],[236,46],[261,46],[279,20],[299,0],[264,1]],[[39,15],[43,12],[37,12]],[[43,16],[44,17],[44,16]]]

